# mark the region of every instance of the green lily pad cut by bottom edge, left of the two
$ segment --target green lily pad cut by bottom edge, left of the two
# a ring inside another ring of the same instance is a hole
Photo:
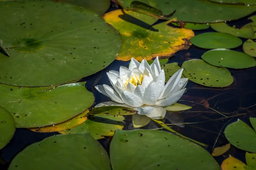
[[[111,170],[108,153],[89,133],[56,135],[34,143],[13,159],[9,170],[35,170],[35,167],[37,170]]]

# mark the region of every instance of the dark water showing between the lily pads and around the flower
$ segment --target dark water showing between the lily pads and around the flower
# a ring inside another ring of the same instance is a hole
[[[113,10],[111,8],[110,10]],[[256,13],[254,13],[256,14]],[[248,17],[244,17],[240,20],[233,21],[230,25],[236,24],[239,28],[244,24],[250,22],[247,20]],[[161,21],[160,21],[161,22]],[[201,34],[204,32],[214,32],[211,28],[204,31],[194,31],[195,34]],[[242,39],[245,41],[245,39]],[[242,46],[235,48],[233,50],[241,51]],[[184,61],[189,59],[201,59],[201,55],[204,54],[207,50],[202,48],[197,48],[191,46],[188,50],[178,51],[174,56],[169,58],[169,62],[178,62],[181,65]],[[108,84],[108,77],[106,75],[107,71],[110,70],[119,70],[119,67],[128,65],[129,62],[122,62],[115,60],[111,65],[109,65],[104,70],[91,75],[90,77],[85,77],[81,81],[87,81],[86,87],[89,91],[93,92],[95,95],[95,104],[100,102],[108,101],[108,97],[100,94],[93,88],[94,85]],[[227,140],[224,137],[223,130],[227,125],[232,122],[235,122],[237,119],[241,119],[246,123],[249,123],[249,116],[256,116],[256,67],[248,69],[229,69],[234,77],[234,83],[226,88],[208,88],[202,85],[197,85],[191,81],[188,82],[186,88],[188,89],[186,94],[181,98],[182,100],[189,100],[197,103],[191,102],[180,102],[186,105],[193,106],[190,111],[181,112],[179,119],[183,119],[185,123],[188,122],[203,122],[212,119],[224,118],[219,113],[212,111],[209,108],[204,107],[198,103],[209,105],[209,107],[214,108],[215,110],[223,113],[226,116],[234,116],[227,119],[209,121],[204,123],[192,123],[185,125],[184,127],[178,127],[172,125],[172,128],[177,132],[187,136],[189,138],[195,139],[199,142],[207,144],[208,147],[206,150],[209,153],[212,152],[212,148],[222,146],[227,144]],[[86,99],[84,99],[86,100]],[[127,117],[127,123],[125,129],[134,129],[130,125],[130,117]],[[165,120],[165,123],[170,123],[168,120]],[[155,125],[153,122],[150,125],[147,125],[143,128],[157,128],[159,126]],[[5,170],[8,168],[9,163],[12,159],[23,150],[25,147],[39,142],[44,138],[58,134],[56,133],[35,133],[27,129],[16,129],[15,135],[12,140],[6,147],[0,150],[0,170]],[[101,139],[99,142],[108,150],[109,139]],[[245,152],[231,146],[230,150],[225,153],[223,156],[215,157],[219,164],[232,154],[236,158],[239,158],[241,161],[245,161],[244,154]]]

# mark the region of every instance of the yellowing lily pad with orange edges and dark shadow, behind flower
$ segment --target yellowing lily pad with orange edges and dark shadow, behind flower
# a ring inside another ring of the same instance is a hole
[[[166,23],[150,27],[156,18],[134,11],[115,10],[104,15],[107,23],[122,35],[122,50],[116,57],[128,61],[134,57],[153,60],[155,57],[168,58],[175,52],[189,48],[192,30],[172,28]]]

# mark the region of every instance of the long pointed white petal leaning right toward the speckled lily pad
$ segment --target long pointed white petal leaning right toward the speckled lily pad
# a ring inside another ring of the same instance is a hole
[[[163,99],[163,98],[166,98],[167,96],[169,96],[169,94],[171,94],[178,82],[180,81],[180,77],[182,75],[182,71],[183,71],[183,68],[181,68],[180,70],[178,70],[175,74],[173,74],[173,76],[168,80],[168,82],[166,83],[166,85],[164,86],[163,88],[163,92],[160,96],[160,99]]]

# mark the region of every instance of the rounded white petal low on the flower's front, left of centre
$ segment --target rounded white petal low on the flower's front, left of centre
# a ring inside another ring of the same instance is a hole
[[[143,105],[140,97],[136,96],[135,94],[129,91],[123,91],[121,96],[122,100],[125,102],[126,105],[136,108]]]

